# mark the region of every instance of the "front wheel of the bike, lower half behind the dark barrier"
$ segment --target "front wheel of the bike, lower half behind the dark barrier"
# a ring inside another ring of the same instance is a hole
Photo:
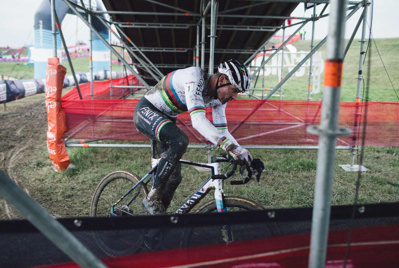
[[[223,205],[228,207],[228,212],[234,211],[254,211],[264,210],[263,205],[245,197],[225,196],[223,197]],[[211,200],[198,209],[194,213],[217,213],[216,202]],[[226,237],[221,232],[221,226],[211,227],[195,227],[185,230],[181,248],[192,246],[206,246],[210,244],[226,243]],[[251,225],[229,225],[229,230],[233,235],[234,241],[259,239],[261,237],[271,237],[277,235],[278,227],[273,224],[259,223]],[[211,238],[211,239],[210,239]]]

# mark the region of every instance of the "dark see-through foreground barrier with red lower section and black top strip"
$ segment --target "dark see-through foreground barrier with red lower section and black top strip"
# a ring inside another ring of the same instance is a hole
[[[399,266],[399,203],[331,210],[326,267]],[[58,219],[109,267],[307,267],[312,208]],[[235,242],[223,242],[229,227]],[[1,267],[78,267],[24,220],[0,221]],[[112,258],[111,258],[112,257]]]

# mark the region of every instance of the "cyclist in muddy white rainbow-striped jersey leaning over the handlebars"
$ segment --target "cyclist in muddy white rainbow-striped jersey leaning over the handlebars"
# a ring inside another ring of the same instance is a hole
[[[227,102],[247,91],[250,83],[247,68],[231,59],[221,63],[214,75],[199,67],[173,71],[138,102],[134,124],[139,132],[157,140],[157,152],[162,152],[154,184],[142,201],[150,215],[164,213],[182,180],[178,161],[186,152],[188,137],[176,126],[176,117],[184,111],[190,113],[192,126],[203,137],[225,150],[240,166],[251,165],[251,154],[228,132],[225,116]],[[205,107],[213,107],[213,124],[205,117]]]

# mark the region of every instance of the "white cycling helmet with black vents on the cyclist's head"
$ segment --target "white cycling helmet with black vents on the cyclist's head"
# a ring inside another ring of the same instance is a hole
[[[247,67],[237,59],[231,59],[221,63],[218,71],[219,73],[226,75],[229,78],[231,85],[237,87],[240,92],[245,92],[249,89],[251,84],[251,75],[249,74]]]

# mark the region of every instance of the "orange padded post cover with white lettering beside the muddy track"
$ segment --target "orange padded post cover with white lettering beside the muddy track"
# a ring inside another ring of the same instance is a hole
[[[63,140],[67,130],[61,95],[67,70],[59,65],[57,57],[49,58],[46,66],[45,104],[47,110],[47,150],[57,171],[66,169],[71,162]]]

